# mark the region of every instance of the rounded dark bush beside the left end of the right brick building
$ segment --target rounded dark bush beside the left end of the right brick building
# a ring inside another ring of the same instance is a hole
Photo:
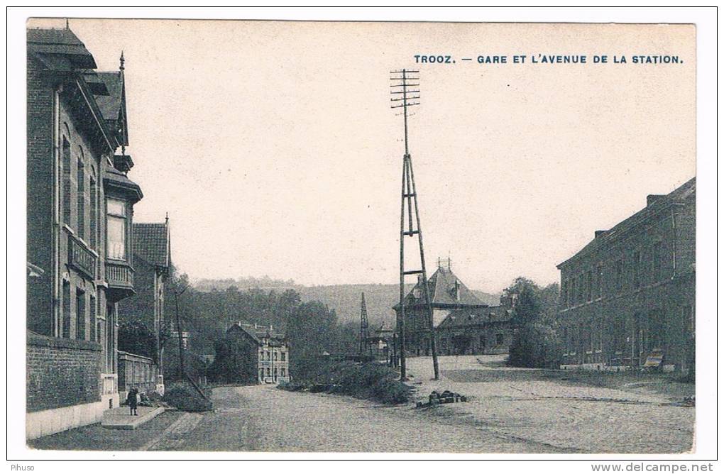
[[[529,323],[513,333],[508,365],[529,368],[558,368],[560,340],[555,331],[542,323]]]

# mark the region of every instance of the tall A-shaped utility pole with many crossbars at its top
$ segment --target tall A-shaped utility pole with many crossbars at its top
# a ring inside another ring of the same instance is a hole
[[[418,275],[418,285],[422,286],[425,297],[425,316],[432,350],[432,368],[434,379],[439,379],[439,367],[437,364],[437,343],[435,342],[435,328],[432,316],[432,301],[430,300],[430,289],[427,284],[427,271],[425,268],[425,253],[422,245],[422,229],[420,227],[420,211],[418,208],[417,191],[415,187],[415,174],[412,169],[412,157],[408,146],[408,108],[419,105],[420,99],[420,77],[419,71],[402,69],[391,71],[390,80],[392,85],[392,109],[403,109],[404,130],[405,130],[405,154],[403,155],[403,177],[402,194],[400,206],[400,310],[397,320],[397,331],[400,340],[400,380],[407,378],[405,364],[405,276]],[[407,207],[408,226],[405,230],[405,202]],[[415,219],[413,220],[413,207],[415,208]],[[405,271],[405,237],[417,235],[418,247],[420,250],[420,268]],[[411,305],[414,308],[415,303]]]

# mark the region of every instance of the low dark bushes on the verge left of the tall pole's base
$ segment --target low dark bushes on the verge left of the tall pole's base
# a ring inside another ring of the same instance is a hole
[[[292,392],[306,387],[310,392],[350,395],[387,405],[406,403],[412,396],[411,386],[397,380],[391,368],[376,362],[320,362],[309,368],[303,380],[278,386]]]

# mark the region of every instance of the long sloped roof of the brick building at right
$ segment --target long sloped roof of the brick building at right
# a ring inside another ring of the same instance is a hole
[[[657,198],[657,200],[654,200],[653,203],[641,209],[641,211],[633,214],[633,216],[630,216],[623,221],[620,221],[611,229],[601,232],[600,234],[598,234],[598,237],[595,237],[594,240],[586,244],[581,250],[578,250],[578,252],[574,254],[571,258],[568,258],[568,260],[559,263],[556,268],[560,269],[566,263],[573,261],[578,257],[582,257],[588,253],[591,253],[599,247],[610,245],[610,242],[613,242],[613,240],[616,240],[619,237],[623,236],[624,234],[626,234],[626,232],[628,232],[628,230],[632,229],[638,224],[641,224],[641,222],[646,221],[651,216],[654,216],[663,208],[667,208],[673,203],[680,203],[689,198],[693,198],[695,197],[695,194],[696,177],[693,177],[689,179],[689,181],[685,182],[683,185],[677,187],[669,194]]]

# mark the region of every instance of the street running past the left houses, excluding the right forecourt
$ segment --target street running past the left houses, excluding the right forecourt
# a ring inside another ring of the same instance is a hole
[[[558,452],[545,444],[381,407],[273,386],[214,389],[216,411],[160,449],[282,452]],[[437,417],[436,417],[437,418]],[[153,448],[151,448],[153,449]]]

